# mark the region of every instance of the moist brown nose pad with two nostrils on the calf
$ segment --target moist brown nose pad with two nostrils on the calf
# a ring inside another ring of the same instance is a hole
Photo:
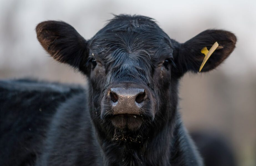
[[[143,88],[115,87],[110,89],[109,97],[114,115],[140,115],[140,108],[143,106],[147,96]]]

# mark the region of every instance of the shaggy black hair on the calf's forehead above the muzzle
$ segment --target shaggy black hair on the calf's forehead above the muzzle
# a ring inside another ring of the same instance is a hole
[[[125,19],[125,20],[123,20]],[[115,76],[128,74],[147,84],[159,61],[172,58],[172,46],[166,33],[149,17],[117,16],[89,43],[90,59],[104,66],[107,83]]]

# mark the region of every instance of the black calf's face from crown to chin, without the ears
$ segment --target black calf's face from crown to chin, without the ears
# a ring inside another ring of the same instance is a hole
[[[169,98],[169,37],[147,17],[117,17],[90,40],[88,48],[93,102],[105,126],[136,131],[152,123],[163,101],[160,97]]]

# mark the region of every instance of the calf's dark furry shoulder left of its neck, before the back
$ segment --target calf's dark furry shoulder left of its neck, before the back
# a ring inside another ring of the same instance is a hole
[[[47,139],[37,166],[95,165],[99,159],[87,92],[80,93],[60,105],[47,132]]]

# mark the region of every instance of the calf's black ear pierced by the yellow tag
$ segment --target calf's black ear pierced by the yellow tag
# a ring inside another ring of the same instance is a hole
[[[224,30],[206,30],[199,33],[187,42],[179,45],[174,57],[176,68],[173,69],[173,72],[178,76],[182,76],[187,71],[199,72],[199,68],[206,56],[201,53],[201,50],[204,47],[209,50],[215,42],[219,46],[206,61],[201,72],[216,68],[232,53],[236,40],[233,33]]]

